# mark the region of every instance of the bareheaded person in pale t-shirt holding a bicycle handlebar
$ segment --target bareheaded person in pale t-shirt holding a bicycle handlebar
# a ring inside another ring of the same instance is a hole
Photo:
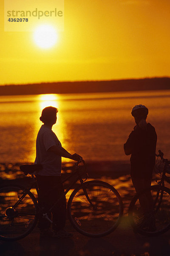
[[[78,161],[81,157],[78,154],[70,154],[65,148],[62,148],[56,134],[52,131],[52,126],[57,121],[58,109],[47,107],[42,110],[40,120],[44,123],[36,140],[36,159],[35,164],[41,164],[42,170],[36,175],[39,186],[39,202],[40,206],[49,209],[59,199],[55,207],[48,212],[49,218],[56,223],[53,225],[52,232],[50,230],[50,222],[40,216],[38,227],[40,228],[40,236],[55,236],[59,238],[67,238],[71,233],[64,230],[66,217],[66,201],[64,188],[61,181],[61,157],[66,157]]]

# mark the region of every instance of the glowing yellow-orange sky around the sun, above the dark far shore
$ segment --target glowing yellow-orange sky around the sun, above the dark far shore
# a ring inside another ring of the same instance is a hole
[[[50,49],[4,32],[0,5],[0,84],[170,76],[170,0],[65,0]]]

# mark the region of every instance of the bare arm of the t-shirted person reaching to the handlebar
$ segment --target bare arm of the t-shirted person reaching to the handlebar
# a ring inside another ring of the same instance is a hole
[[[57,154],[61,157],[72,159],[74,161],[78,161],[81,158],[81,156],[78,154],[70,154],[67,150],[65,150],[65,148],[59,148],[56,145],[51,146],[47,151],[53,152],[54,154]]]

